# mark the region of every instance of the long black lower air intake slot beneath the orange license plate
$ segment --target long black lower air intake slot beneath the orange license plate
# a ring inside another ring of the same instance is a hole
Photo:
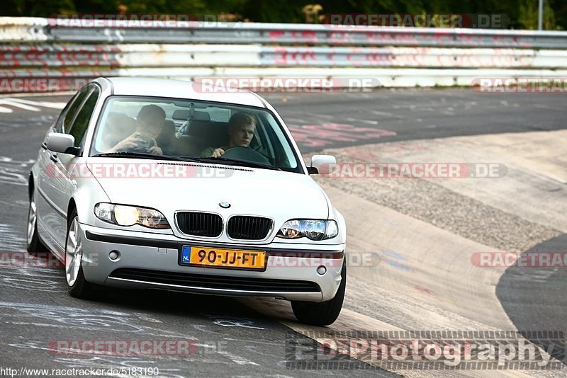
[[[114,270],[110,277],[203,289],[245,290],[248,292],[321,292],[319,285],[309,281],[198,275],[146,269],[120,268]]]

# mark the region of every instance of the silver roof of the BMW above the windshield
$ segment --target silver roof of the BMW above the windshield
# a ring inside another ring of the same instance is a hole
[[[250,91],[233,91],[232,89],[225,91],[223,87],[218,86],[208,86],[206,87],[207,91],[205,91],[201,89],[205,87],[194,81],[145,77],[106,77],[100,79],[111,82],[113,95],[159,96],[266,107],[262,99]],[[213,88],[212,91],[211,88]],[[218,91],[215,91],[214,88],[218,88]]]

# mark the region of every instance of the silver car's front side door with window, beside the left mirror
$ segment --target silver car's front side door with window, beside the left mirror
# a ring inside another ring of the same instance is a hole
[[[92,112],[98,101],[100,89],[96,84],[89,84],[77,93],[61,122],[55,125],[55,132],[71,134],[75,138],[74,147],[82,150],[84,135],[91,120]],[[62,119],[61,119],[62,118]],[[80,164],[81,157],[74,154],[61,154],[43,148],[43,164],[38,183],[40,197],[43,197],[43,227],[47,238],[55,241],[57,251],[64,251],[67,234],[67,206],[77,182],[72,175],[73,168]],[[38,205],[39,206],[39,205]]]

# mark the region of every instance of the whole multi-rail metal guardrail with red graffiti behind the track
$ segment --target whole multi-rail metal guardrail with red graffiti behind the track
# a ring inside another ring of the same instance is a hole
[[[0,17],[0,93],[66,90],[96,76],[470,85],[486,76],[565,76],[558,69],[567,68],[566,48],[566,32],[172,21],[161,28],[65,26]]]

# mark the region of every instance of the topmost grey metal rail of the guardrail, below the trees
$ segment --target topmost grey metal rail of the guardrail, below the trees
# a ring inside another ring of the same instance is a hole
[[[281,23],[179,23],[179,27],[103,27],[89,23],[57,26],[48,20],[49,39],[60,42],[99,43],[259,43],[327,46],[422,46],[567,48],[566,32],[485,30],[464,28],[353,27]]]

